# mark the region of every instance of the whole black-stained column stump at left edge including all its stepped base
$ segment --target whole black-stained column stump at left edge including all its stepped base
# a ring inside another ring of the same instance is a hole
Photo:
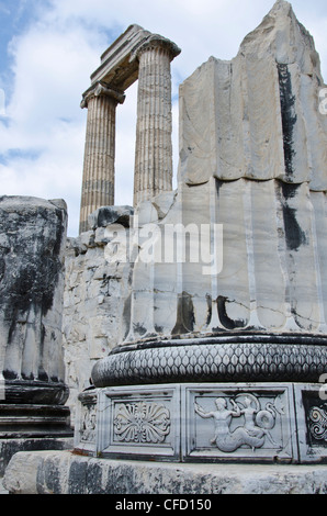
[[[63,348],[65,201],[0,197],[0,476],[14,453],[71,449]]]

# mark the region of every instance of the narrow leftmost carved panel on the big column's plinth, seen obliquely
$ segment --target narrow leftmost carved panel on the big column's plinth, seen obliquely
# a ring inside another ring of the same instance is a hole
[[[94,455],[97,442],[98,389],[78,396],[78,414],[75,427],[75,449]]]

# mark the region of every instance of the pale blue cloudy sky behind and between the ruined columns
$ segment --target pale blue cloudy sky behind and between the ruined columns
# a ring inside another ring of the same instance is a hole
[[[327,82],[326,0],[293,0]],[[182,49],[172,63],[173,166],[178,87],[210,56],[233,58],[273,0],[0,0],[0,195],[63,198],[78,234],[87,110],[82,92],[100,55],[137,23]],[[117,109],[116,204],[132,204],[135,83]]]

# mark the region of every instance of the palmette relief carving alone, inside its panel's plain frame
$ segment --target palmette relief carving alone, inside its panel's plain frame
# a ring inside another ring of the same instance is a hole
[[[120,441],[164,442],[170,431],[170,411],[157,403],[119,404],[113,424]]]

